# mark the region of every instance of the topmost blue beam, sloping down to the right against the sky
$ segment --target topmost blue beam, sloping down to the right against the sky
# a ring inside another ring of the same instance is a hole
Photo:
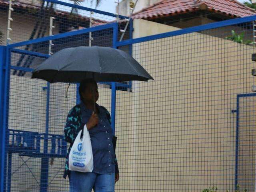
[[[107,16],[112,16],[112,17],[116,18],[115,14],[105,12],[105,11],[100,11],[100,10],[96,10],[96,9],[92,9],[92,8],[88,8],[88,7],[84,7],[84,6],[80,6],[80,5],[74,5],[74,4],[71,4],[71,3],[61,2],[61,1],[58,1],[58,0],[46,0],[46,1],[51,2],[51,3],[55,3],[55,4],[59,4],[59,5],[73,7],[73,8],[80,9],[80,10],[85,10],[85,11],[90,11],[90,12],[93,11],[94,13],[107,15]],[[119,15],[119,18],[124,19],[124,18],[128,18],[128,17]]]

